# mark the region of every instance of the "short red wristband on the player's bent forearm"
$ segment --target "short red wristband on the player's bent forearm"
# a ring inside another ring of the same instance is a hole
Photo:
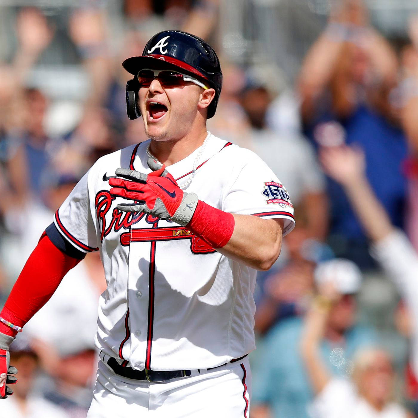
[[[235,219],[231,213],[216,209],[199,200],[187,228],[213,248],[222,248],[232,237]]]

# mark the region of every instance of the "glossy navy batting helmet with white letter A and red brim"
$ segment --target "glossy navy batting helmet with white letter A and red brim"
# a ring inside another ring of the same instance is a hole
[[[215,114],[222,89],[222,71],[218,56],[203,39],[181,31],[163,31],[154,35],[145,45],[142,56],[125,59],[123,68],[134,75],[126,83],[126,109],[130,120],[140,117],[138,106],[138,72],[150,69],[177,69],[199,79],[215,89],[216,94],[208,107],[207,117]]]

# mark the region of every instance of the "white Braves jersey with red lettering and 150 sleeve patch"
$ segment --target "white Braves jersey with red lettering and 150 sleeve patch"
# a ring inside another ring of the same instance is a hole
[[[100,350],[139,370],[217,367],[255,348],[256,271],[174,222],[116,208],[126,200],[110,195],[109,176],[119,167],[149,173],[148,143],[100,158],[54,222],[78,250],[100,251]],[[180,186],[198,153],[167,167]],[[257,155],[211,135],[199,163],[187,192],[225,212],[283,218],[283,235],[293,229],[289,195]]]

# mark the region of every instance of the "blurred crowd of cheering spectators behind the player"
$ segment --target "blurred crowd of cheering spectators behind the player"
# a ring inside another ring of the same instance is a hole
[[[208,129],[260,155],[295,206],[296,228],[257,277],[251,417],[418,416],[418,17],[394,42],[362,0],[330,2],[298,74],[278,83],[268,66],[228,59],[222,0],[125,0],[117,18],[86,3],[59,19],[3,7],[13,30],[0,33],[11,46],[0,61],[0,306],[94,161],[147,139],[127,119],[121,62],[182,29],[221,58]],[[5,416],[86,416],[105,287],[89,254],[25,326]]]

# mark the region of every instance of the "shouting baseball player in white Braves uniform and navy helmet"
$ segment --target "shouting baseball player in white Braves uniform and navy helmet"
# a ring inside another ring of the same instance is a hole
[[[14,336],[100,251],[88,416],[247,417],[256,270],[277,259],[293,206],[257,155],[206,131],[222,72],[205,41],[164,31],[122,65],[128,117],[142,115],[150,140],[100,158],[29,257],[0,313],[1,396]]]

